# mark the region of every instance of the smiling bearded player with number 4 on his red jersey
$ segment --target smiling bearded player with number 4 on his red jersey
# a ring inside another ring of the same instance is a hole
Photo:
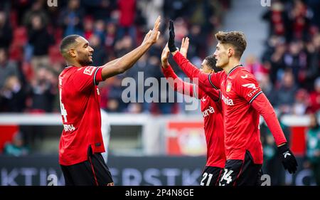
[[[85,38],[63,38],[60,53],[68,66],[59,75],[63,132],[59,144],[59,164],[65,185],[114,185],[101,153],[100,93],[97,85],[131,68],[159,38],[160,16],[142,44],[121,58],[100,67],[90,66],[93,49]]]

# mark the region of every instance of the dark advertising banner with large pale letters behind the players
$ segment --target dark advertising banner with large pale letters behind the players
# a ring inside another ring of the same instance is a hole
[[[298,162],[302,164],[302,159],[298,159]],[[205,157],[110,156],[108,160],[114,184],[126,186],[197,186],[205,163]],[[311,171],[299,169],[294,176],[284,172],[282,177],[267,174],[263,176],[262,182],[274,185],[273,180],[278,178],[278,184],[281,185],[314,185]],[[282,170],[281,165],[279,170]],[[0,181],[1,186],[64,185],[58,157],[55,155],[0,156]]]

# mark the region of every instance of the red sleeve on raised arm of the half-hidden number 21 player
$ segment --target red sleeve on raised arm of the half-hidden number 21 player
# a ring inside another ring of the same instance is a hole
[[[176,75],[176,73],[174,73],[174,70],[172,70],[170,65],[168,66],[168,68],[161,69],[171,88],[183,95],[189,95],[191,97],[198,98],[198,85],[187,83],[181,80],[181,78],[178,78],[178,76]]]

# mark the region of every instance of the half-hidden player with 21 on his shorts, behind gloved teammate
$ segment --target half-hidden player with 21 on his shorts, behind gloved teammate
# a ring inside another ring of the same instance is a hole
[[[188,41],[182,40],[180,52],[186,57]],[[220,91],[212,87],[198,88],[198,85],[184,82],[169,65],[169,48],[166,46],[161,55],[162,71],[169,85],[178,93],[189,95],[201,100],[204,130],[207,143],[207,162],[203,169],[201,185],[217,186],[225,167],[225,145],[223,134],[223,110],[220,101]],[[215,58],[208,56],[201,64],[203,73],[215,73]]]

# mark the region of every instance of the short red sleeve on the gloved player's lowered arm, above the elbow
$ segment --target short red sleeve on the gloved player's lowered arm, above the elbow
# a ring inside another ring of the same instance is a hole
[[[236,93],[240,95],[240,97],[245,98],[247,102],[251,103],[262,93],[262,90],[252,73],[242,71],[235,79]]]

